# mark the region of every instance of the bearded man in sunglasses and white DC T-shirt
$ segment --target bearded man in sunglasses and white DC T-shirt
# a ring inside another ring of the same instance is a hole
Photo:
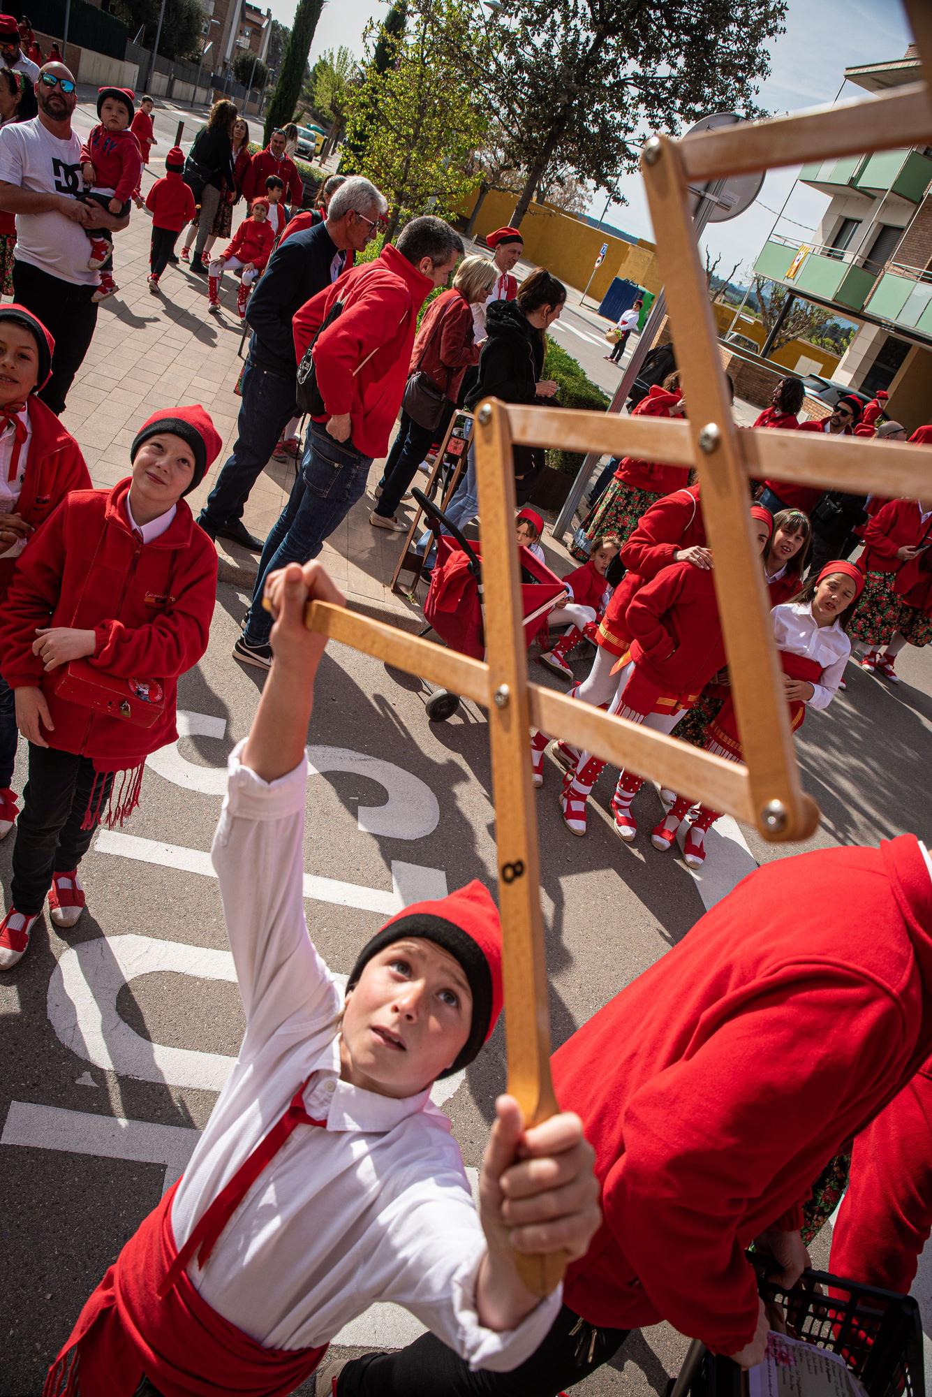
[[[0,130],[0,210],[17,215],[14,295],[54,338],[52,377],[39,394],[53,412],[63,411],[98,323],[92,296],[99,278],[88,268],[84,228],[93,219],[116,232],[128,222],[78,200],[77,99],[64,63],[46,63],[36,82],[39,115]]]

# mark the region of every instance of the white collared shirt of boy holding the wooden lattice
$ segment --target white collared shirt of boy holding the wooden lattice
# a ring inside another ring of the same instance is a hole
[[[480,1324],[486,1241],[449,1120],[427,1091],[393,1099],[340,1080],[343,996],[304,921],[307,764],[269,784],[240,766],[241,749],[212,856],[247,1028],[174,1197],[177,1245],[308,1076],[304,1105],[326,1123],[297,1126],[188,1275],[266,1348],[317,1347],[392,1301],[473,1366],[515,1368],[547,1334],[562,1288],[515,1330]]]

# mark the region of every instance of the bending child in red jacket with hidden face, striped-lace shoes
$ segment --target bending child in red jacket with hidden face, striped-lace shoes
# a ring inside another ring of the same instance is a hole
[[[751,507],[751,518],[763,552],[773,520],[759,504]],[[666,567],[632,599],[628,626],[635,638],[614,666],[612,673],[621,673],[608,712],[657,732],[672,732],[726,662],[712,569],[689,562]],[[604,766],[600,757],[580,752],[566,771],[559,805],[571,834],[586,833],[589,792]],[[642,785],[642,777],[622,771],[611,799],[615,833],[626,844],[638,833],[631,803]]]

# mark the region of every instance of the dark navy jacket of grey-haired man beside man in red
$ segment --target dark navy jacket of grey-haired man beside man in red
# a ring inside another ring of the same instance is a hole
[[[335,257],[336,244],[326,224],[303,228],[275,249],[246,307],[253,331],[250,358],[260,369],[294,377],[292,317],[306,300],[331,285]]]

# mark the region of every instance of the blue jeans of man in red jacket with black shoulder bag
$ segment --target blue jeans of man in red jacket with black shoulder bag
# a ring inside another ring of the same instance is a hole
[[[324,539],[342,524],[356,502],[366,493],[371,455],[363,455],[352,441],[335,441],[324,426],[311,422],[301,469],[292,496],[265,539],[255,578],[253,602],[246,617],[250,645],[268,643],[272,617],[262,608],[268,573],[286,563],[310,563]]]

